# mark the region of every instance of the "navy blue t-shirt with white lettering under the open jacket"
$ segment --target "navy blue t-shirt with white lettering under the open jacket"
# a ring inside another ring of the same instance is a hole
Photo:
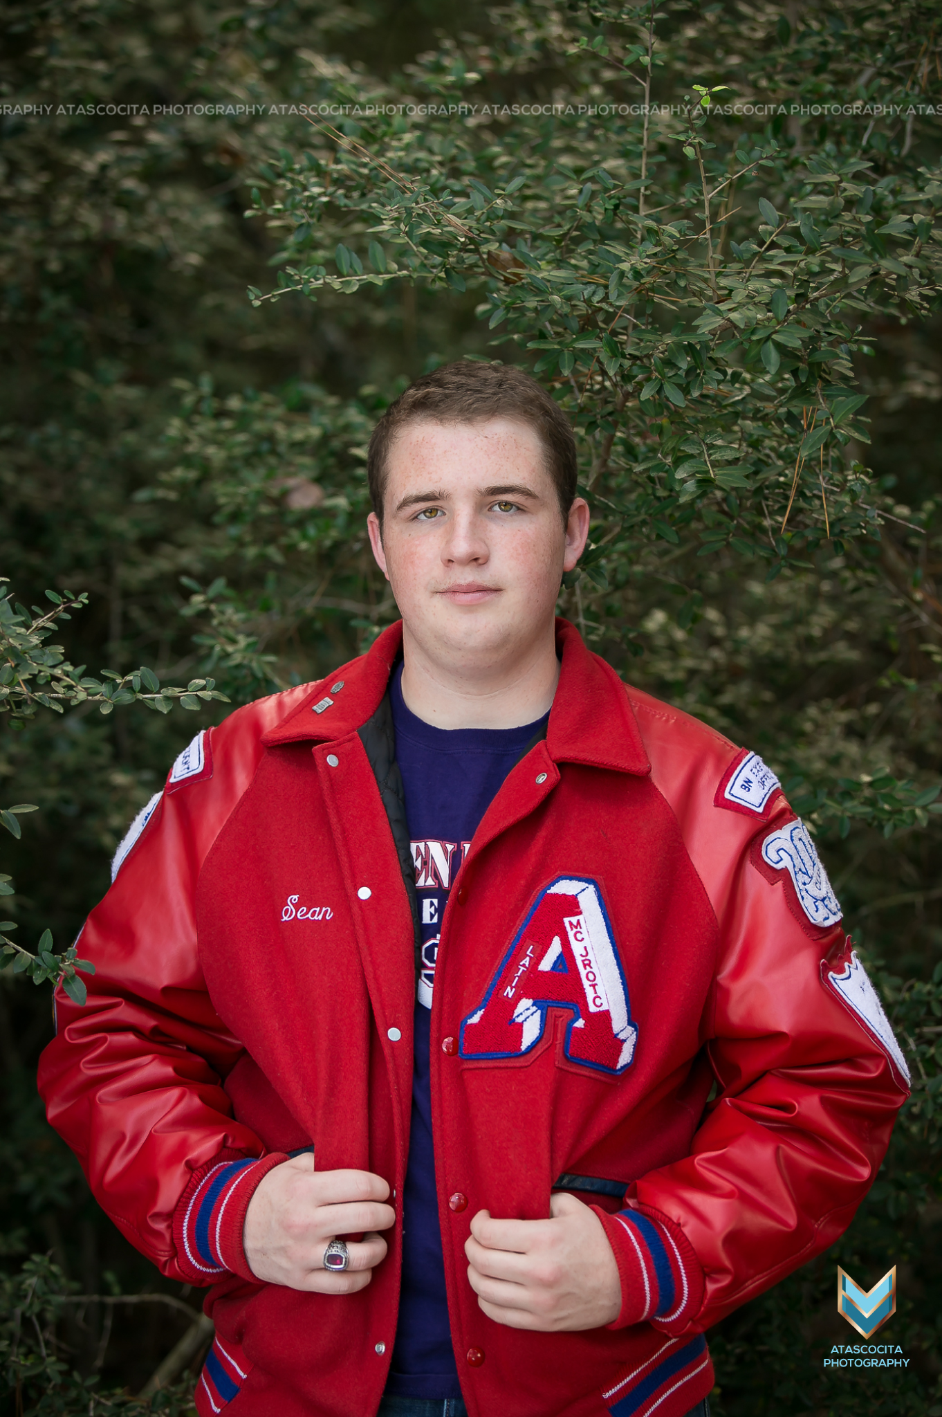
[[[433,728],[411,713],[402,666],[390,684],[395,757],[405,789],[422,928],[422,968],[415,1003],[412,1129],[402,1196],[402,1295],[387,1393],[395,1397],[460,1397],[448,1323],[442,1233],[435,1193],[429,1034],[435,956],[445,903],[477,823],[504,778],[535,737],[521,728]]]

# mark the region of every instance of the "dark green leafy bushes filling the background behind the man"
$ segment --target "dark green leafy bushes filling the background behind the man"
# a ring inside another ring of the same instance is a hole
[[[942,1413],[938,18],[915,0],[0,9],[0,574],[11,604],[89,592],[54,635],[71,682],[143,663],[245,701],[364,648],[395,616],[364,537],[377,411],[456,354],[520,360],[577,419],[595,506],[562,612],[761,751],[812,822],[917,1088],[846,1238],[711,1336],[721,1417]],[[589,112],[647,82],[669,109],[647,128]],[[693,85],[728,88],[710,112]],[[408,99],[499,112],[288,111]],[[783,111],[715,112],[734,101]],[[503,113],[533,102],[562,111]],[[33,666],[54,690],[48,642]],[[95,694],[0,717],[0,806],[38,806],[0,830],[4,913],[28,951],[48,928],[54,959],[195,714],[227,711]],[[198,1295],[125,1244],[47,1128],[30,972],[0,975],[8,1401],[177,1411]],[[854,1339],[836,1263],[867,1287],[898,1265],[881,1339],[905,1372],[823,1370]]]

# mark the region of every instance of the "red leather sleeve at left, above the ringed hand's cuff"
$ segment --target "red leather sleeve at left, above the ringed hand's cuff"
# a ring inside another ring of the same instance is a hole
[[[258,733],[241,717],[212,731],[228,744],[212,775],[205,765],[178,784],[171,775],[89,915],[79,947],[95,965],[88,1003],[57,992],[57,1034],[38,1073],[48,1119],[102,1209],[164,1274],[188,1282],[211,1278],[177,1254],[173,1236],[194,1173],[221,1155],[263,1152],[222,1087],[242,1047],[207,995],[193,904],[203,860],[254,771]]]

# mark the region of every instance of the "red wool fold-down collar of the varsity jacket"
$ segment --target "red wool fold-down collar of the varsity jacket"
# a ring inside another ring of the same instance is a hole
[[[368,653],[317,683],[293,713],[269,728],[262,737],[265,747],[330,743],[356,733],[380,707],[401,652],[402,622],[397,621]],[[565,619],[557,619],[557,653],[562,667],[547,728],[552,761],[650,772],[635,713],[615,670],[585,648],[575,625]],[[341,682],[343,687],[331,693],[331,686]],[[324,699],[331,703],[314,713]]]

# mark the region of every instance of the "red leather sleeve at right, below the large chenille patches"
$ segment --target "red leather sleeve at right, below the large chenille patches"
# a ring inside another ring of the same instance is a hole
[[[683,1230],[703,1265],[700,1311],[669,1326],[687,1332],[769,1288],[850,1224],[905,1101],[905,1064],[891,1036],[884,1046],[829,988],[850,958],[840,924],[815,925],[788,870],[764,864],[762,843],[795,822],[782,794],[761,813],[715,805],[738,751],[690,720],[680,733],[663,706],[637,697],[654,782],[718,925],[703,1037],[720,1094],[693,1153],[629,1189],[629,1203]]]

